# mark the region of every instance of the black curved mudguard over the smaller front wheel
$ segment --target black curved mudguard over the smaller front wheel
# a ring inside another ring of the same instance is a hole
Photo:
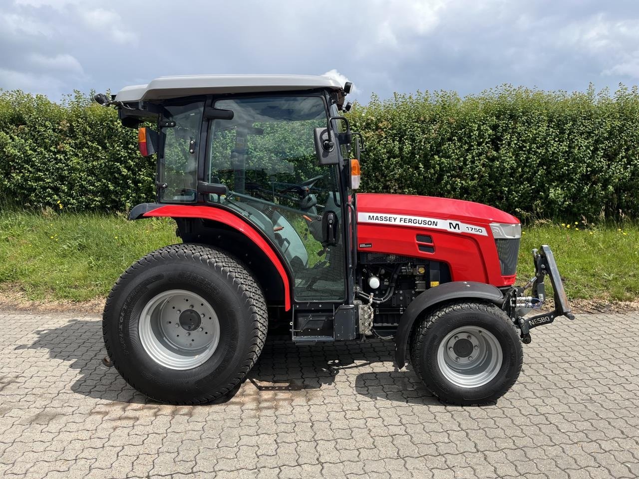
[[[471,299],[487,300],[501,306],[504,295],[497,287],[474,281],[452,281],[427,289],[415,298],[399,319],[395,335],[395,364],[401,369],[406,365],[406,344],[413,330],[415,319],[426,309],[443,301]]]

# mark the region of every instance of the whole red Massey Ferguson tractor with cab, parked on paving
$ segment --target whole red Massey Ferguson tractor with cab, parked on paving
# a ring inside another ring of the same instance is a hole
[[[354,193],[363,139],[340,113],[351,87],[202,75],[95,96],[139,128],[142,155],[157,155],[157,202],[129,219],[173,218],[181,238],[128,268],[107,299],[105,346],[134,388],[210,402],[242,383],[268,330],[285,328],[300,343],[394,338],[397,367],[410,355],[441,400],[485,404],[516,381],[532,328],[573,319],[547,246],[514,287],[517,218]],[[555,310],[525,318],[544,302],[546,275]]]

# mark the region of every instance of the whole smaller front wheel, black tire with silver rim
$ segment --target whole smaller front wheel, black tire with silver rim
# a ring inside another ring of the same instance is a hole
[[[512,321],[488,303],[449,303],[426,314],[413,332],[411,363],[443,402],[493,402],[517,381],[523,362]]]

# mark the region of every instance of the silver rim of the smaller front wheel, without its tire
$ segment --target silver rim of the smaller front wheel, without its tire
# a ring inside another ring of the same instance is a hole
[[[489,383],[503,362],[502,346],[493,333],[474,326],[450,331],[437,351],[437,364],[443,376],[460,388]]]

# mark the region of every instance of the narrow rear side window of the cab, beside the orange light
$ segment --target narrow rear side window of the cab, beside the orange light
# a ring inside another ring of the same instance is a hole
[[[196,102],[165,108],[162,119],[175,121],[175,126],[162,128],[164,151],[158,160],[158,176],[167,184],[160,191],[162,202],[197,199],[197,153],[203,106],[203,102]]]

